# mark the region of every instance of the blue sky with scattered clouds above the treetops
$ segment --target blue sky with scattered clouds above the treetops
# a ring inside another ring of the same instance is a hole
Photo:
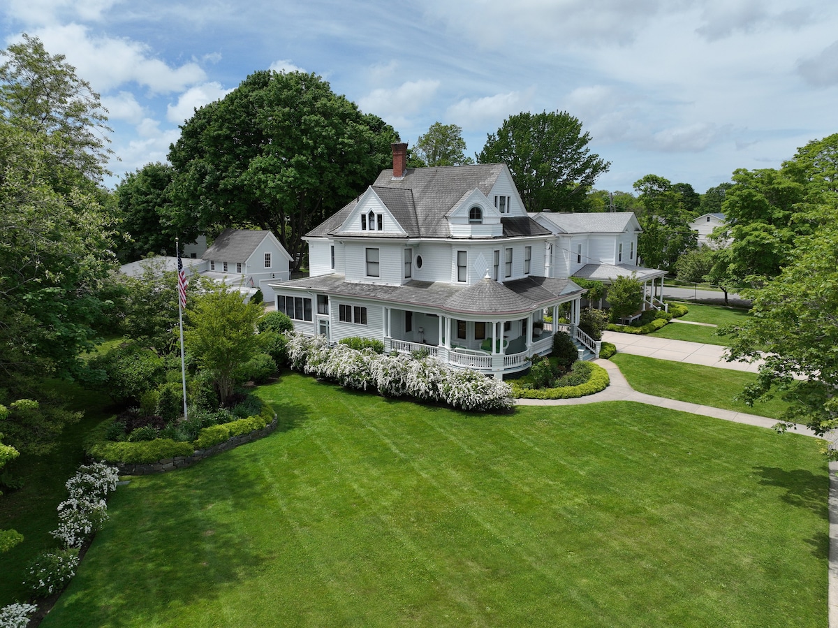
[[[565,110],[611,162],[703,192],[838,132],[834,0],[6,0],[3,44],[37,35],[109,110],[116,184],[164,161],[178,124],[251,72],[305,70],[414,143],[467,154],[522,111]]]

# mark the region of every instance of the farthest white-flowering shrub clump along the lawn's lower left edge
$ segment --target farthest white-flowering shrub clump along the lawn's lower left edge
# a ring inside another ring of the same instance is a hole
[[[59,504],[59,527],[50,534],[67,548],[80,548],[107,521],[105,498],[118,481],[116,467],[104,463],[81,465],[67,480],[70,498]]]

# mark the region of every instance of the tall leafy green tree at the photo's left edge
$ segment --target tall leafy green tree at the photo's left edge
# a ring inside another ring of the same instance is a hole
[[[98,96],[38,39],[3,54],[0,373],[10,381],[75,370],[106,313],[115,258]]]

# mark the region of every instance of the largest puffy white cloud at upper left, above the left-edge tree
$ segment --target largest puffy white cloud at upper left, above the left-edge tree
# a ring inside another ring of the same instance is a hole
[[[76,23],[39,29],[36,34],[50,54],[65,54],[78,75],[91,82],[96,91],[109,91],[137,82],[157,93],[182,91],[206,79],[196,63],[171,67],[154,59],[145,44],[130,39],[96,37]]]

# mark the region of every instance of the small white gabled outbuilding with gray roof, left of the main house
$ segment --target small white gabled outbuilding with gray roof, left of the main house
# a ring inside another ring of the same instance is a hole
[[[271,283],[286,281],[290,276],[291,256],[271,231],[225,229],[202,257],[182,256],[182,260],[189,274],[198,273],[215,282],[224,282],[251,296],[261,289],[269,302],[274,300]],[[175,270],[177,264],[177,257],[151,257],[124,264],[121,271],[138,276],[148,266],[163,272]]]

